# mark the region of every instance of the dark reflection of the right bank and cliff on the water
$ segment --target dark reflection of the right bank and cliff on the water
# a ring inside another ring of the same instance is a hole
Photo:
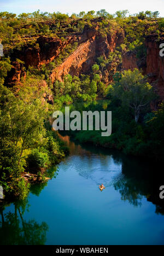
[[[60,134],[59,136],[69,147],[71,155],[79,155],[84,164],[87,157],[87,171],[86,168],[79,168],[80,176],[95,180],[97,185],[104,183],[105,187],[113,186],[115,190],[119,190],[121,200],[128,201],[136,207],[141,206],[142,198],[146,197],[148,201],[156,205],[157,214],[164,214],[164,200],[159,197],[159,188],[164,180],[160,166],[132,156],[126,156],[117,150],[97,148],[86,144],[81,147],[75,141],[70,141],[69,136],[61,136]],[[93,163],[94,154],[96,158],[94,158]],[[95,161],[98,170],[104,171],[104,176],[101,179],[93,175],[96,172]],[[116,173],[114,170],[109,170],[109,166],[116,167]]]

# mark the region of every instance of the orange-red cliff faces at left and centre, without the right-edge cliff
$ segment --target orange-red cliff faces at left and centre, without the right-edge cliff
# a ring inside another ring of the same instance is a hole
[[[55,68],[51,74],[52,82],[55,79],[62,80],[66,74],[79,75],[89,72],[97,57],[101,55],[108,57],[116,46],[124,43],[124,31],[115,30],[112,34],[109,33],[104,37],[98,31],[98,26],[91,29],[86,25],[83,33],[67,37],[63,41],[58,38],[41,36],[37,39],[37,44],[34,47],[26,46],[22,50],[15,50],[11,59],[24,61],[27,68],[28,66],[39,67],[54,60],[66,45],[74,42],[78,42],[77,50]],[[10,82],[20,81],[22,73],[15,62],[13,62],[13,68],[13,71],[9,74],[8,83],[9,80]],[[17,76],[17,73],[20,73],[20,75]],[[108,82],[109,72],[103,75],[104,82]]]

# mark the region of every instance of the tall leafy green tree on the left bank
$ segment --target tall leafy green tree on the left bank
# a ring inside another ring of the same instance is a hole
[[[48,141],[44,127],[48,104],[42,100],[44,91],[36,90],[35,86],[22,88],[15,97],[0,86],[0,176],[7,191],[12,184],[15,195],[27,194],[21,179],[26,166],[25,150],[45,147]]]

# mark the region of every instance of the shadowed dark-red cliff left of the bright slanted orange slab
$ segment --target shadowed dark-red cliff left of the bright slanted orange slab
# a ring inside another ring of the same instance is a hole
[[[12,69],[8,73],[8,77],[5,82],[9,86],[13,86],[15,82],[20,82],[20,78],[26,77],[26,72],[22,70],[22,65],[15,61],[19,59],[25,63],[25,67],[29,66],[38,67],[43,64],[48,64],[54,60],[67,44],[75,42],[77,38],[67,37],[65,41],[61,41],[58,38],[41,36],[37,39],[34,46],[25,46],[24,49],[14,50],[11,54]]]

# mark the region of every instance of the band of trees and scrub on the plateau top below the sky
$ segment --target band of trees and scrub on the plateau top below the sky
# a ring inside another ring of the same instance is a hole
[[[114,15],[107,13],[106,10],[81,11],[78,15],[72,14],[69,17],[61,13],[22,13],[18,16],[8,12],[0,13],[0,38],[4,44],[4,51],[10,55],[11,49],[21,49],[28,44],[36,45],[36,38],[40,35],[58,37],[64,39],[68,34],[83,32],[85,25],[90,28],[98,25],[102,35],[109,32],[112,27],[125,29],[125,45],[129,49],[139,47],[144,40],[143,35],[156,33],[160,36],[163,32],[163,19],[157,18],[159,12],[141,12],[129,15],[127,10],[117,11]],[[94,19],[101,18],[98,23]],[[122,45],[122,48],[125,48]]]

